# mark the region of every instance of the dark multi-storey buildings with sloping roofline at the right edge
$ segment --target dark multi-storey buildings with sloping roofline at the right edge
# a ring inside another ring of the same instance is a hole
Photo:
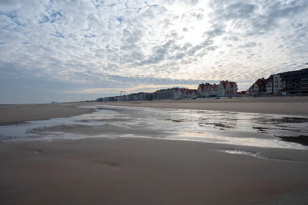
[[[308,94],[308,68],[271,74],[267,79],[258,79],[247,95],[305,95]]]

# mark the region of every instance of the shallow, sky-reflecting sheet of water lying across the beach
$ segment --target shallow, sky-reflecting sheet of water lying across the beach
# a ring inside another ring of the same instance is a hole
[[[70,118],[0,126],[0,141],[154,137],[259,147],[308,149],[308,118],[225,111],[95,106]],[[66,133],[61,132],[65,128]],[[72,134],[69,129],[98,129]]]

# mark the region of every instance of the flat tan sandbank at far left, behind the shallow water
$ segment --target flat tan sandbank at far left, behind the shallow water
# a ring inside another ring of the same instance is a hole
[[[0,108],[0,125],[20,124],[32,120],[66,118],[92,113],[92,108],[72,105],[5,105]]]

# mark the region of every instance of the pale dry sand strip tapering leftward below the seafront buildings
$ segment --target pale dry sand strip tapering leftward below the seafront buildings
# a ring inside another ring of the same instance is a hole
[[[114,105],[129,107],[153,107],[174,109],[199,109],[232,111],[241,113],[280,114],[308,116],[308,97],[288,98],[245,98],[245,99],[202,99],[202,100],[163,100],[135,102],[85,103],[79,105]]]

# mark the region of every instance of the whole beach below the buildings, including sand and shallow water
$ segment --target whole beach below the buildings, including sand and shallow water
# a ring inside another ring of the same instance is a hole
[[[0,143],[0,202],[307,204],[308,150],[275,137],[305,135],[306,105],[288,98],[0,108],[2,123],[37,120],[0,129],[28,132]]]

